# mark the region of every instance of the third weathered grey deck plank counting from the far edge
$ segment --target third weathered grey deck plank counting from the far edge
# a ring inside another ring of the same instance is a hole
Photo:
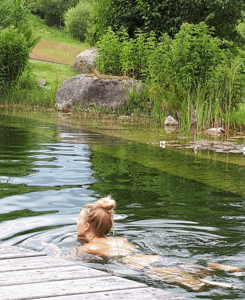
[[[73,265],[46,269],[0,272],[0,286],[67,279],[112,276],[96,269]]]

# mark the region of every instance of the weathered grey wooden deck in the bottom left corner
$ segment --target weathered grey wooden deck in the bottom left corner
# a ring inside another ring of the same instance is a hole
[[[20,247],[0,247],[0,299],[180,300],[160,289]]]

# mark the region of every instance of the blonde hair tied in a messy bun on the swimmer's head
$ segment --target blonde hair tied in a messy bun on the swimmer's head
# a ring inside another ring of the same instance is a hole
[[[114,236],[113,209],[115,207],[116,203],[111,196],[83,206],[84,220],[86,223],[91,224],[97,236],[104,237],[110,233],[112,228]]]

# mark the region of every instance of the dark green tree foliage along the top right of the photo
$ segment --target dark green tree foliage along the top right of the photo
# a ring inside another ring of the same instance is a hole
[[[99,36],[111,26],[115,32],[127,29],[130,37],[138,28],[173,37],[182,23],[206,20],[217,36],[235,41],[241,39],[235,28],[244,19],[244,9],[244,0],[97,0],[93,18]]]

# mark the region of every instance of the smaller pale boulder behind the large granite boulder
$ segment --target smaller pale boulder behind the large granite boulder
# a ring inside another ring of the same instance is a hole
[[[97,56],[97,48],[82,51],[76,56],[72,69],[80,72],[81,74],[93,73],[95,69],[95,58]]]

